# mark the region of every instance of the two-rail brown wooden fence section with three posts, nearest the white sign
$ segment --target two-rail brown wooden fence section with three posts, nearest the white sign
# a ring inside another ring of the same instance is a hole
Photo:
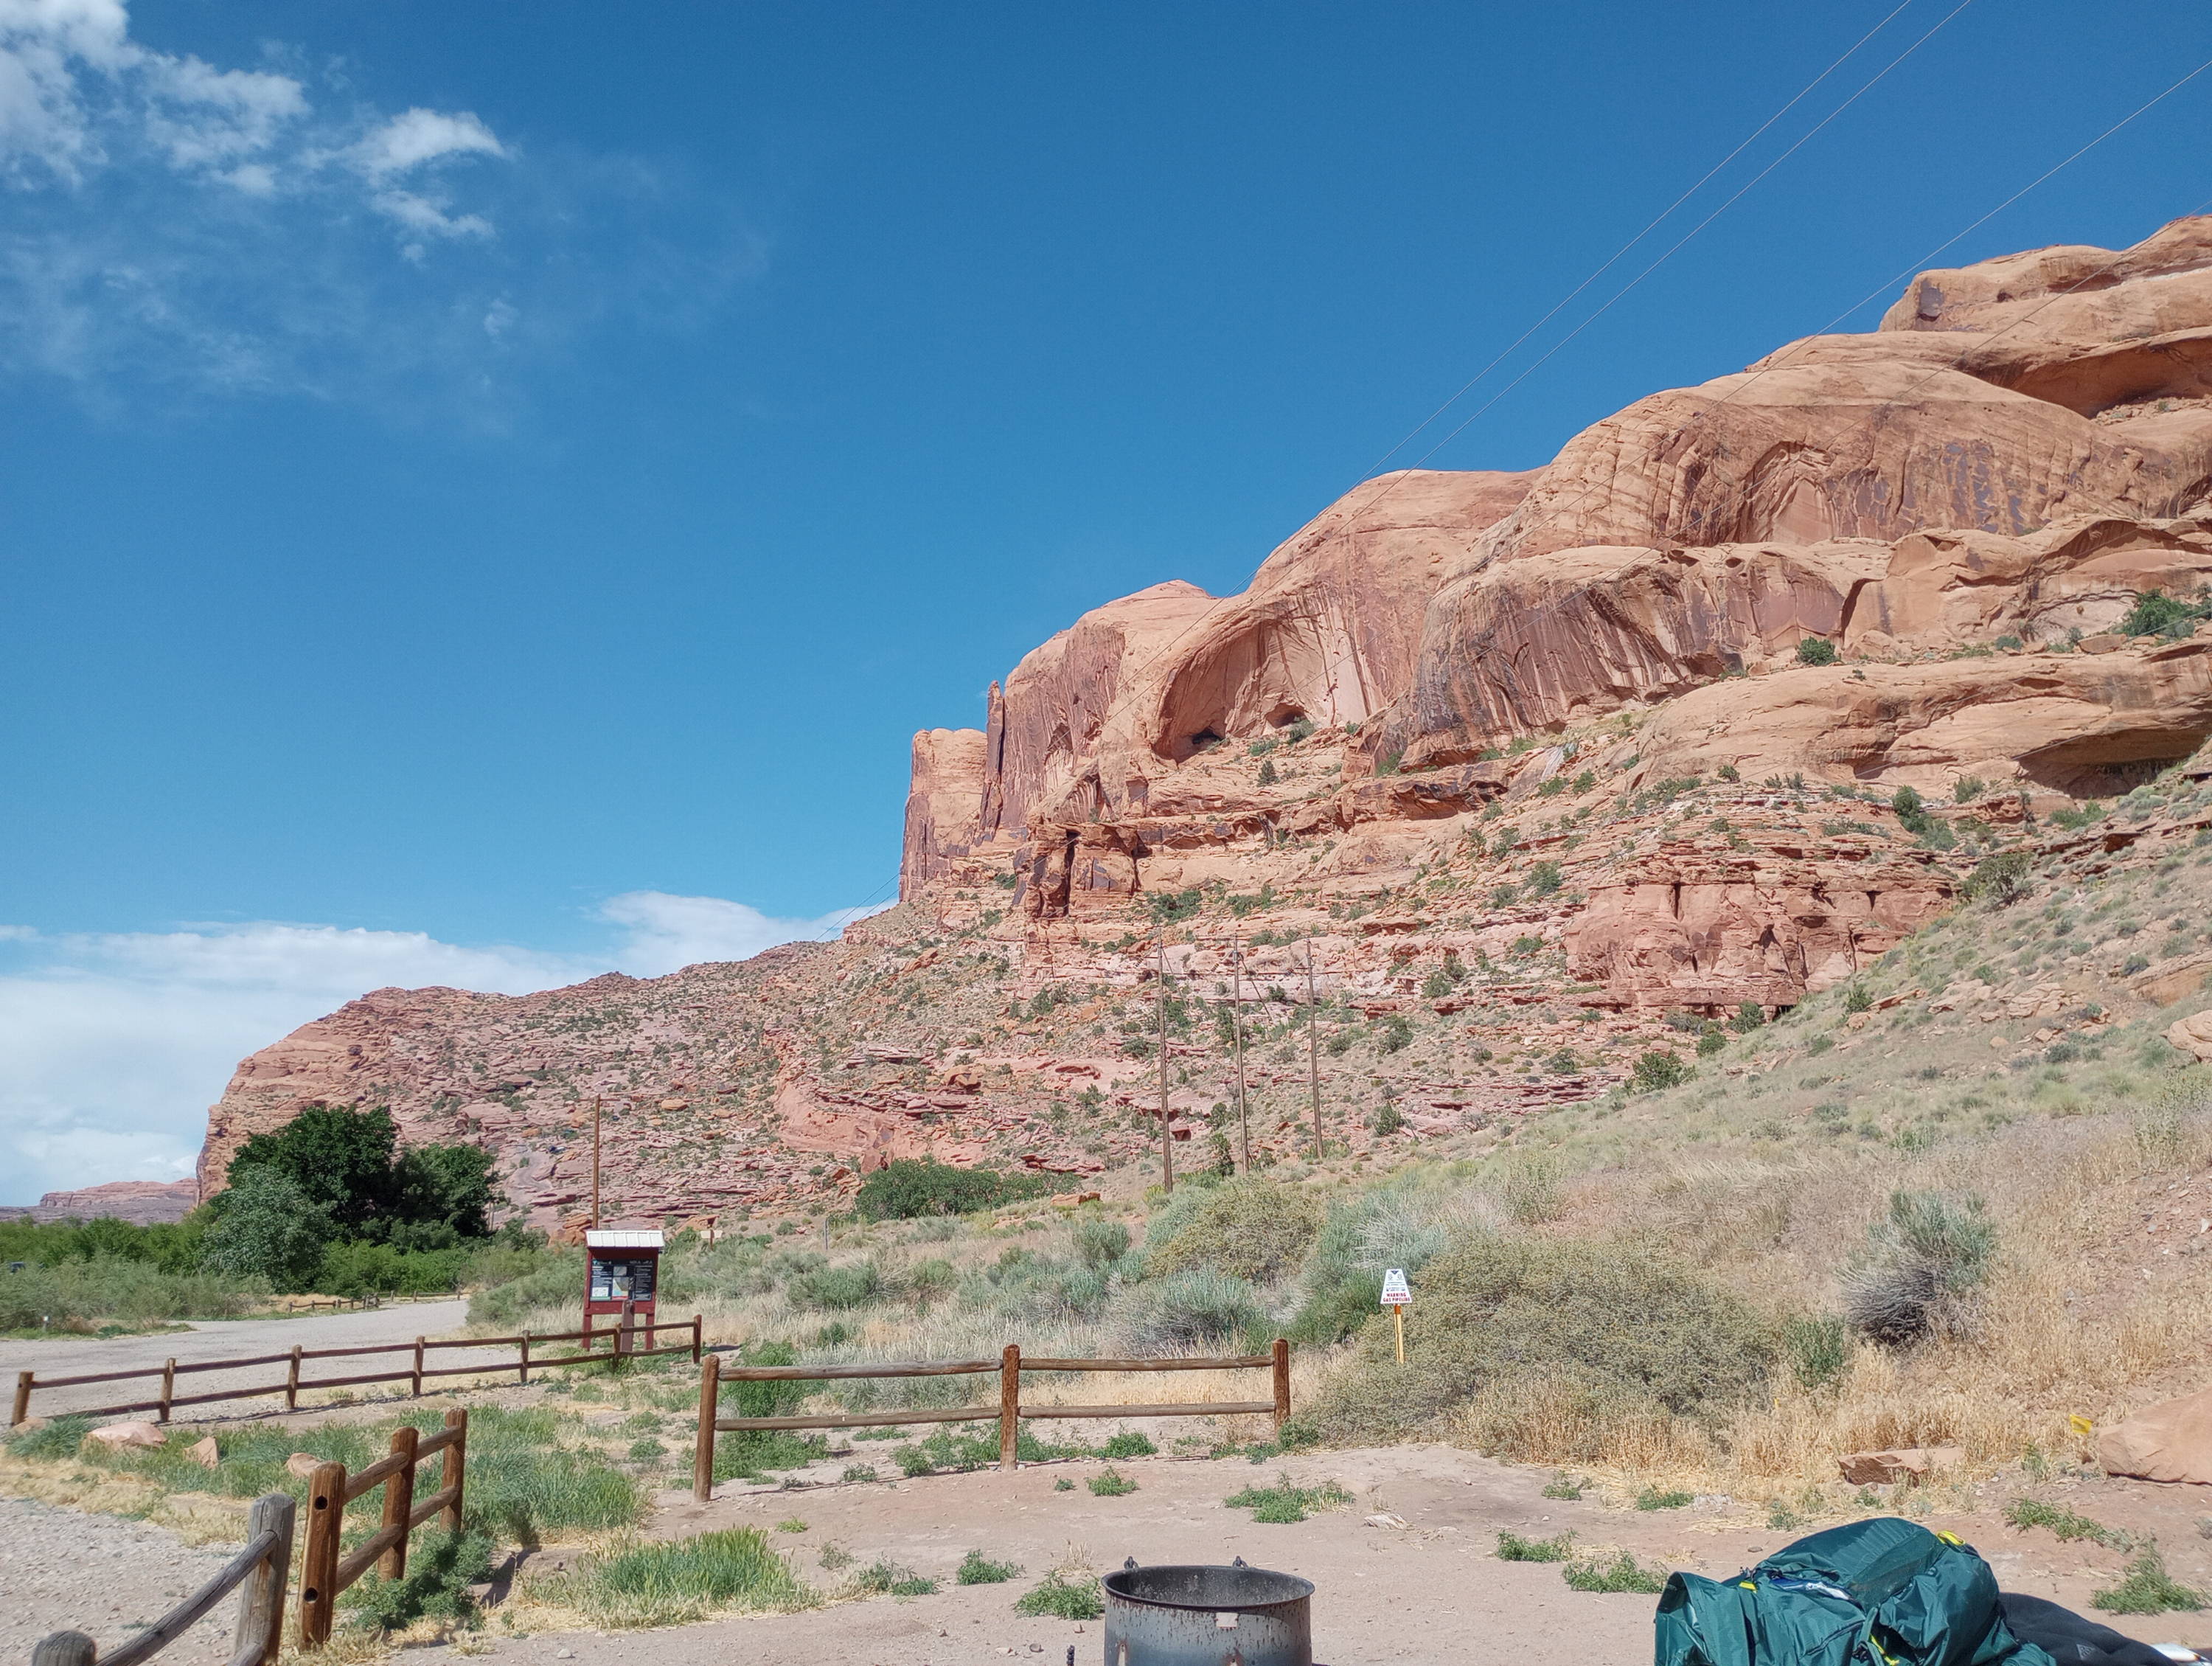
[[[1188,1405],[1022,1405],[1022,1372],[1259,1372],[1274,1374],[1267,1401],[1194,1401]],[[721,1383],[830,1383],[898,1376],[978,1376],[998,1372],[998,1405],[956,1405],[918,1412],[867,1412],[860,1416],[723,1418],[717,1416]],[[1290,1343],[1281,1336],[1265,1354],[1230,1358],[1022,1358],[1006,1343],[998,1358],[956,1358],[918,1365],[730,1365],[708,1356],[699,1367],[699,1436],[692,1447],[692,1493],[714,1496],[714,1436],[734,1429],[874,1429],[894,1423],[989,1423],[998,1420],[998,1467],[1015,1467],[1022,1418],[1223,1418],[1267,1412],[1281,1429],[1290,1418]]]

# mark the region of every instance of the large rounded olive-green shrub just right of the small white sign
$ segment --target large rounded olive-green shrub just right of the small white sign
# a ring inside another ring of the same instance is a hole
[[[1586,1447],[1546,1451],[1546,1420],[1712,1418],[1776,1358],[1747,1303],[1644,1241],[1473,1232],[1420,1270],[1416,1294],[1407,1365],[1376,1325],[1323,1387],[1316,1423],[1332,1440],[1436,1431],[1482,1396],[1473,1416],[1491,1449],[1590,1462]]]

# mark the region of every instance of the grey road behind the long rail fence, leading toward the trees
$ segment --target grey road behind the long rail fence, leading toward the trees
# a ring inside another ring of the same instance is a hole
[[[252,1358],[283,1354],[290,1347],[376,1347],[414,1343],[416,1336],[445,1336],[467,1319],[467,1301],[416,1301],[394,1308],[369,1308],[349,1314],[303,1314],[301,1319],[208,1319],[186,1332],[161,1336],[55,1336],[51,1341],[0,1341],[0,1383],[13,1389],[15,1372],[40,1376],[86,1376],[93,1372],[161,1370],[164,1358],[179,1365],[215,1358]],[[511,1361],[513,1350],[440,1347],[438,1365],[491,1365]],[[400,1370],[407,1354],[367,1354],[363,1358],[310,1361],[301,1372],[312,1383],[319,1376],[361,1376]],[[177,1394],[208,1394],[223,1387],[263,1387],[283,1383],[283,1365],[250,1365],[241,1372],[190,1372],[177,1378]],[[133,1378],[124,1383],[86,1383],[84,1387],[33,1389],[31,1414],[58,1416],[95,1405],[128,1405],[150,1401],[161,1381]],[[177,1407],[177,1423],[234,1418],[270,1409],[281,1401],[215,1401],[212,1405]]]

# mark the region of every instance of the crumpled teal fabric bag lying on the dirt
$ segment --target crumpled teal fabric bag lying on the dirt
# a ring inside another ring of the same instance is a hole
[[[1785,1544],[1725,1584],[1677,1573],[1657,1666],[2055,1666],[1997,1611],[1971,1544],[1880,1516]]]

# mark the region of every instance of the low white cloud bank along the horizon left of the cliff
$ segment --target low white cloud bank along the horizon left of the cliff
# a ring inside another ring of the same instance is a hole
[[[248,1053],[369,989],[522,996],[602,971],[655,978],[834,936],[860,909],[779,920],[719,896],[626,892],[595,954],[467,947],[425,931],[199,925],[55,934],[0,925],[0,1201],[192,1170],[208,1106]]]

